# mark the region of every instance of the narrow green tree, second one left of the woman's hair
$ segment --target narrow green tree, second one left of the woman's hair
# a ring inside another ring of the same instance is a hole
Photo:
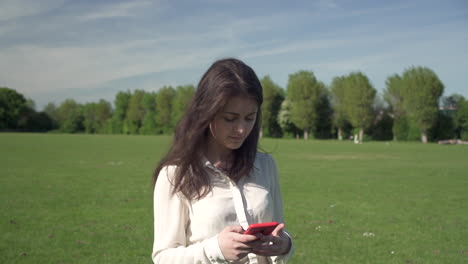
[[[156,96],[156,124],[160,128],[160,133],[172,133],[174,126],[172,122],[172,108],[175,97],[175,90],[171,86],[164,86]]]

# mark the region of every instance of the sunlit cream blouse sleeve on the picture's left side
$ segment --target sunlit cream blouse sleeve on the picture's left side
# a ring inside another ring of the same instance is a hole
[[[164,167],[154,189],[154,263],[228,263],[219,248],[217,235],[187,245],[190,223],[188,201],[173,194],[170,182],[175,166]]]

